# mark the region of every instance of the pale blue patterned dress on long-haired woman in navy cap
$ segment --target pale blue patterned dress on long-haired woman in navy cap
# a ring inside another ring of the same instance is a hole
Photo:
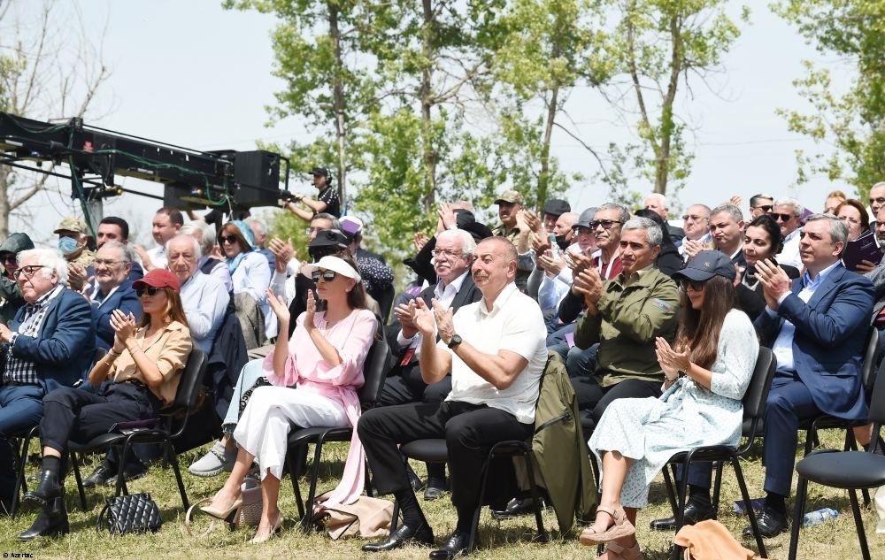
[[[682,377],[658,399],[617,399],[609,404],[588,445],[600,465],[603,451],[620,451],[634,459],[620,491],[625,508],[645,507],[651,481],[674,454],[740,441],[741,399],[758,353],[750,318],[743,311],[728,311],[710,368],[712,390]]]

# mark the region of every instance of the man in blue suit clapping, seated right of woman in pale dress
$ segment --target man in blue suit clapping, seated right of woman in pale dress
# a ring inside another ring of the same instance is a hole
[[[843,266],[839,257],[847,239],[842,221],[814,214],[799,241],[802,278],[790,286],[787,274],[771,261],[756,266],[766,297],[766,312],[756,326],[777,358],[762,451],[766,502],[759,528],[766,537],[787,530],[785,501],[798,427],[821,414],[866,419],[860,368],[873,284]],[[744,534],[750,534],[749,527]]]

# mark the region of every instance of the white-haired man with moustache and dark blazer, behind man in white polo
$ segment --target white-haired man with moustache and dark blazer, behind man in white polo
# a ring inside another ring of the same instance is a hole
[[[482,294],[470,276],[474,249],[476,243],[473,242],[473,237],[464,230],[445,230],[436,236],[434,269],[439,281],[418,295],[427,303],[428,308],[433,306],[434,299],[452,312],[458,311],[467,303],[480,301]],[[432,385],[424,382],[418,363],[421,337],[418,335],[418,328],[412,323],[409,304],[398,305],[394,310],[394,317],[395,321],[389,326],[388,334],[390,348],[395,349],[396,365],[388,373],[378,403],[381,406],[390,406],[442,402],[451,391],[451,376],[448,375]],[[439,497],[444,488],[444,465],[427,464],[425,499]]]

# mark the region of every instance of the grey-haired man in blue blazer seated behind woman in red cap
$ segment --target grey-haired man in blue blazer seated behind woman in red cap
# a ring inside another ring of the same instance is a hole
[[[87,297],[92,303],[92,322],[96,326],[96,346],[111,349],[114,332],[111,328],[111,313],[115,309],[127,315],[132,313],[135,320],[142,316],[142,303],[132,289],[129,273],[132,271],[132,249],[121,242],[105,242],[98,248],[95,267],[96,288],[89,290]]]

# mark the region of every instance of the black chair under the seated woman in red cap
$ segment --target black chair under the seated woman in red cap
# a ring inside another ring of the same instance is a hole
[[[117,486],[114,488],[114,495],[120,495],[121,493],[127,495],[129,490],[126,486],[123,471],[126,466],[127,453],[135,443],[162,443],[165,445],[165,456],[172,464],[173,472],[175,472],[175,479],[178,482],[178,490],[181,494],[181,503],[184,505],[185,510],[189,508],[188,494],[185,492],[184,482],[181,480],[181,470],[178,465],[178,456],[173,448],[173,440],[178,438],[188,426],[188,418],[196,407],[198,388],[203,382],[205,371],[205,353],[198,348],[192,349],[188,357],[188,363],[185,364],[184,371],[181,372],[181,381],[178,385],[178,391],[175,393],[173,405],[161,410],[160,418],[157,418],[157,424],[161,425],[160,427],[139,427],[131,431],[127,430],[128,433],[103,433],[85,443],[68,441],[73,475],[77,479],[77,491],[80,493],[80,503],[83,510],[87,508],[86,492],[83,489],[80,467],[77,464],[77,454],[95,453],[96,451],[104,452],[111,448],[121,449],[119,453]]]

